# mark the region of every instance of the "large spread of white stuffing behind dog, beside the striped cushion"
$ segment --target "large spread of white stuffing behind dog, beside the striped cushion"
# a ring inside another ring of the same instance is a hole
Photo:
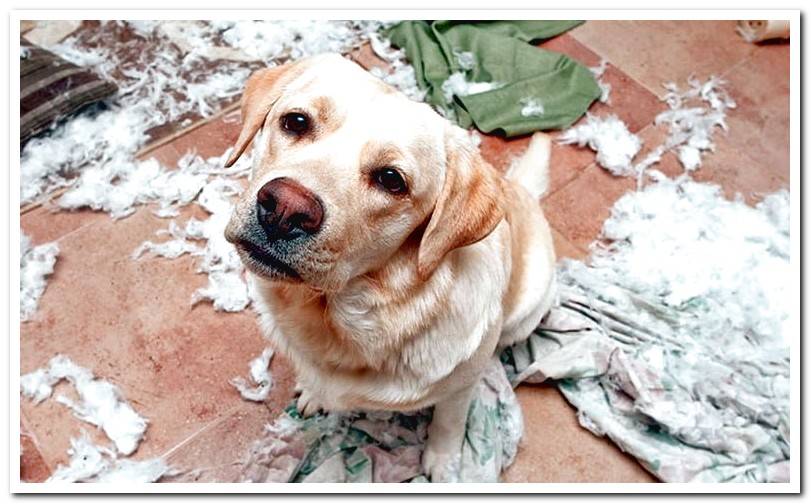
[[[147,130],[215,113],[241,93],[251,70],[261,63],[346,53],[382,26],[379,21],[107,21],[93,32],[79,31],[46,49],[92,67],[115,82],[119,93],[107,110],[75,117],[25,145],[20,201],[34,202],[69,185],[87,164],[134,162],[148,140]],[[116,30],[128,27],[149,43],[138,37],[106,43],[116,37]],[[142,70],[128,61],[133,53]],[[217,65],[212,68],[213,60]],[[399,66],[401,73],[408,73],[404,61]],[[413,68],[411,73],[413,80]]]

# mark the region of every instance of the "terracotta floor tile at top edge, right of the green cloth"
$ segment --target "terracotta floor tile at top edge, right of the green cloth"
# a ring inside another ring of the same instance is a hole
[[[755,50],[735,21],[587,21],[571,35],[657,96],[663,82],[721,75]]]

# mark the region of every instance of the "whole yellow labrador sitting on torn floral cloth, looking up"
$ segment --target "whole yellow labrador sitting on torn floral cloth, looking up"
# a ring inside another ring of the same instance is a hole
[[[252,141],[254,164],[226,237],[299,409],[435,406],[422,462],[453,479],[481,370],[556,293],[548,137],[502,176],[464,130],[339,55],[256,72],[242,115],[227,165]]]

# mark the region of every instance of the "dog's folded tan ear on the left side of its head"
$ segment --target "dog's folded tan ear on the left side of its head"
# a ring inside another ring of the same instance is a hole
[[[248,148],[253,137],[262,128],[273,104],[281,97],[284,85],[298,75],[298,71],[294,70],[299,66],[298,63],[285,63],[273,68],[264,68],[254,72],[248,79],[245,92],[242,94],[242,131],[239,132],[234,150],[225,162],[226,167],[236,163]]]

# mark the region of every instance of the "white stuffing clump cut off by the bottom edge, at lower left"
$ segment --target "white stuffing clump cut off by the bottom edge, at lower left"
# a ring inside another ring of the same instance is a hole
[[[93,444],[84,431],[70,440],[70,446],[70,462],[57,467],[47,483],[153,483],[171,471],[160,457],[117,459],[113,450]]]

